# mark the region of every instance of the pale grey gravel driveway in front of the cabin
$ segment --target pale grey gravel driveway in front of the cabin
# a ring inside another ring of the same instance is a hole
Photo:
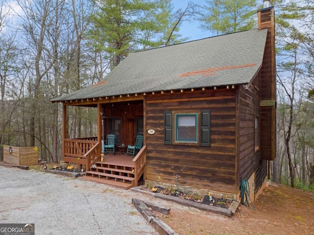
[[[36,235],[158,235],[132,197],[152,202],[131,190],[0,166],[0,224],[34,223]]]

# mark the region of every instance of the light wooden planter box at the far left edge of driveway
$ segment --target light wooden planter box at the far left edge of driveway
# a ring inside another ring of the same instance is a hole
[[[38,164],[38,151],[34,147],[3,145],[3,161],[12,165],[29,166]]]

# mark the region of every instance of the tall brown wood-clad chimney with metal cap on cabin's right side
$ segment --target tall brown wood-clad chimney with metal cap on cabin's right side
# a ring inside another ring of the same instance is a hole
[[[276,156],[276,57],[275,13],[269,0],[263,0],[258,10],[259,30],[268,29],[260,72],[261,157],[274,160]]]

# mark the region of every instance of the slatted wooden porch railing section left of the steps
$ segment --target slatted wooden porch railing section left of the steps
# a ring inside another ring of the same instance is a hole
[[[85,138],[65,139],[63,141],[63,144],[64,144],[63,160],[67,162],[86,165],[87,167],[86,157],[84,157],[84,155],[87,152],[89,152],[89,150],[93,148],[93,146],[95,146],[97,143],[98,142],[95,140],[88,140]],[[79,158],[79,161],[78,161],[78,158]]]

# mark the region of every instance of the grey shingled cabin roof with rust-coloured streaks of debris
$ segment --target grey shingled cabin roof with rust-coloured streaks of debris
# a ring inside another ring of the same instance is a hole
[[[133,52],[100,83],[52,102],[246,84],[262,66],[267,29]]]

